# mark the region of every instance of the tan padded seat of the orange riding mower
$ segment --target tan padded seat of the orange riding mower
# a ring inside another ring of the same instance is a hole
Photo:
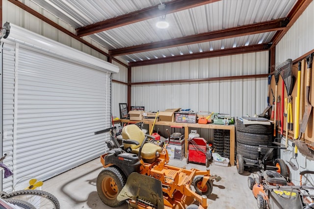
[[[124,143],[124,150],[130,150],[131,148],[131,153],[138,154],[139,148],[145,139],[145,134],[143,131],[136,125],[131,124],[123,127],[122,129],[122,138],[123,139],[132,139],[135,141],[138,141],[139,144],[127,144]],[[161,153],[162,148],[160,146],[157,146],[156,144],[153,143],[145,143],[142,152],[141,152],[141,157],[143,160],[155,160],[156,153],[159,152]]]

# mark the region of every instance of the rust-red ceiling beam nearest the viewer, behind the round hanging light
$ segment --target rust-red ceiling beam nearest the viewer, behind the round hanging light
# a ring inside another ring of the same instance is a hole
[[[156,18],[165,15],[165,13],[170,14],[185,9],[193,8],[196,6],[201,6],[204,4],[209,4],[219,0],[172,0],[164,2],[166,5],[164,10],[159,10],[158,5],[147,7],[138,11],[130,12],[125,15],[121,15],[115,18],[111,18],[98,23],[93,23],[86,25],[84,27],[79,27],[76,29],[77,35],[87,36],[101,31],[109,30],[116,27],[121,27],[131,23],[137,23],[140,21]]]

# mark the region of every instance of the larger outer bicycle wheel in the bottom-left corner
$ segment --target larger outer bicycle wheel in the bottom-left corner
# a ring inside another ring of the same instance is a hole
[[[2,198],[23,200],[35,206],[36,209],[60,209],[59,201],[55,196],[49,192],[37,189],[13,191],[3,194]]]

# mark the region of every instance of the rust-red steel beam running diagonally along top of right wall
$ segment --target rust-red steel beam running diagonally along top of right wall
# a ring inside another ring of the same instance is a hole
[[[284,37],[290,27],[295,23],[295,21],[301,16],[304,10],[309,6],[312,0],[298,0],[291,11],[289,12],[287,18],[290,20],[287,27],[282,31],[277,31],[277,33],[272,38],[272,46],[276,46],[279,41]]]

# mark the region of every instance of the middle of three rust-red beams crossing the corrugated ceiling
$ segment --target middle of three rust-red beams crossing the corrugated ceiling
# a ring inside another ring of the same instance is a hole
[[[160,48],[169,48],[175,46],[183,46],[189,44],[196,44],[202,42],[209,42],[221,39],[227,39],[238,36],[245,36],[257,33],[270,32],[275,30],[283,30],[288,24],[285,18],[265,21],[262,23],[254,23],[242,25],[238,27],[226,28],[222,30],[215,30],[207,33],[200,33],[196,35],[185,36],[182,38],[170,39],[149,44],[130,46],[109,50],[111,56],[120,56],[125,54],[139,53],[143,51],[156,50]]]

